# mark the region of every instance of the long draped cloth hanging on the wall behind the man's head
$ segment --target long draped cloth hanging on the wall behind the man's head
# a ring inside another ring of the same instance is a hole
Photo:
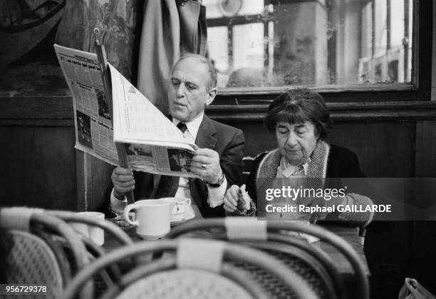
[[[205,54],[205,12],[195,0],[150,0],[144,5],[137,88],[162,113],[168,112],[167,84],[180,54]]]

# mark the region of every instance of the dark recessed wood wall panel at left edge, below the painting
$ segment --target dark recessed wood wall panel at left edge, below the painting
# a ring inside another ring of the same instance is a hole
[[[76,210],[74,131],[0,126],[1,206]]]

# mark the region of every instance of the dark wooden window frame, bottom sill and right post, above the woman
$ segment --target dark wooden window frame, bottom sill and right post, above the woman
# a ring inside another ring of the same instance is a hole
[[[305,87],[318,91],[327,103],[414,102],[431,100],[432,81],[432,1],[413,1],[412,83],[375,83],[370,85],[279,86],[268,88],[218,88],[212,106],[264,106],[280,93]],[[208,110],[219,111],[218,107]],[[224,108],[224,107],[222,107]],[[248,107],[246,107],[248,108]],[[244,109],[245,110],[245,109]]]

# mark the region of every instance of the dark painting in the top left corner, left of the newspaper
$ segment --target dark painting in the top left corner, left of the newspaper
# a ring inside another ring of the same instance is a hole
[[[53,41],[66,0],[3,0],[0,2],[1,96],[33,96],[56,89],[66,93],[66,83],[56,67]]]

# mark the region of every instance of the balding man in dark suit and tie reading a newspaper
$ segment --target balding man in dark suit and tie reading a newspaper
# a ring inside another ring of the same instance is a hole
[[[239,184],[244,135],[241,130],[218,123],[204,114],[217,95],[217,74],[203,56],[182,56],[172,69],[168,101],[172,123],[198,149],[190,161],[190,171],[199,178],[162,176],[117,167],[111,179],[110,205],[120,214],[126,206],[125,194],[135,198],[191,198],[203,217],[224,216],[227,186]]]

